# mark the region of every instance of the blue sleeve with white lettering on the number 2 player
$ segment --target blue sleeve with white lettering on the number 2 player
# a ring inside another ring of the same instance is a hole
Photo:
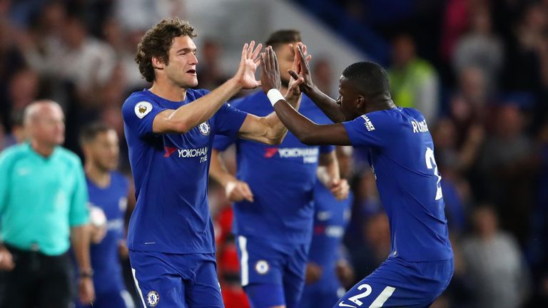
[[[354,147],[382,147],[390,141],[390,116],[386,111],[367,113],[342,123]],[[393,125],[393,123],[392,123]]]

